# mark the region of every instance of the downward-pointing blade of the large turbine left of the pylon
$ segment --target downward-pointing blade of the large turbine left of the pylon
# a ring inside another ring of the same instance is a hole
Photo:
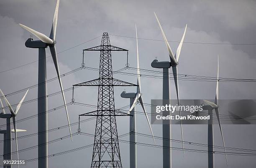
[[[57,53],[56,53],[55,46],[50,47],[50,51],[51,51],[51,56],[52,56],[52,59],[54,61],[55,69],[56,69],[56,72],[57,72],[57,75],[58,75],[59,85],[61,87],[61,93],[62,93],[63,101],[64,101],[64,104],[65,104],[65,110],[66,110],[67,120],[68,120],[68,124],[69,124],[70,138],[71,138],[71,141],[72,141],[72,133],[71,133],[70,122],[69,122],[69,114],[68,114],[68,111],[67,111],[67,104],[66,104],[66,99],[65,99],[65,95],[64,95],[64,91],[63,91],[61,78],[59,76],[59,64],[58,64],[58,58],[57,58]]]

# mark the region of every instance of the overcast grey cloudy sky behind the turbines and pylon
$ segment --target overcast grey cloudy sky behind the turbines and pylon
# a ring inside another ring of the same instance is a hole
[[[20,66],[38,59],[38,50],[26,48],[24,43],[30,37],[18,26],[22,23],[39,32],[49,35],[51,22],[54,15],[56,0],[2,0],[0,1],[0,72],[12,67]],[[256,1],[253,0],[227,0],[223,1],[102,1],[102,0],[60,0],[59,20],[56,30],[56,49],[61,52],[69,47],[86,42],[92,38],[108,32],[111,44],[129,50],[129,63],[136,67],[136,41],[133,38],[117,37],[122,35],[135,37],[135,24],[137,24],[138,37],[162,40],[160,29],[154,17],[156,12],[166,37],[170,41],[179,41],[184,27],[187,24],[185,42],[207,43],[256,43]],[[37,40],[36,37],[33,37]],[[82,63],[82,49],[100,45],[101,37],[91,42],[82,44],[74,49],[58,54],[61,74],[80,66]],[[158,58],[159,61],[169,60],[164,42],[151,40],[138,40],[140,67],[153,69],[150,64]],[[170,42],[173,52],[178,43]],[[48,55],[49,49],[46,49]],[[218,44],[191,44],[184,43],[179,58],[179,73],[194,74],[200,76],[215,77],[217,74],[217,55],[220,55],[220,77],[256,79],[255,45],[218,45]],[[99,52],[86,53],[86,66],[99,67]],[[126,53],[114,53],[113,69],[117,70],[125,66]],[[37,83],[37,62],[20,67],[8,72],[0,73],[0,88],[5,94],[23,89]],[[136,73],[133,70],[125,72]],[[141,72],[141,74],[143,74]],[[47,59],[47,78],[56,77],[54,64],[51,57]],[[72,84],[85,82],[98,77],[98,72],[88,69],[80,70],[74,74],[62,78],[64,88]],[[136,83],[136,77],[114,75],[115,78]],[[141,77],[141,89],[145,103],[151,99],[161,99],[161,79]],[[215,82],[179,81],[181,99],[213,99],[215,96]],[[176,98],[174,82],[171,80],[171,98]],[[136,91],[136,88],[115,88],[115,107],[119,108],[129,104],[128,99],[120,98],[120,93]],[[59,91],[57,81],[48,83],[48,93]],[[11,104],[16,104],[24,93],[7,97]],[[69,102],[72,98],[71,91],[66,92]],[[255,83],[230,83],[220,82],[220,99],[255,99]],[[26,100],[37,97],[37,89],[28,92]],[[97,87],[84,87],[75,90],[77,102],[97,105]],[[48,109],[62,105],[61,95],[49,97]],[[78,114],[94,110],[83,106],[68,106],[71,123],[78,121]],[[136,107],[142,111],[141,107]],[[146,107],[150,112],[150,107]],[[7,110],[6,110],[7,111]],[[221,112],[221,109],[220,109]],[[37,103],[24,104],[17,116],[22,119],[37,114]],[[49,129],[67,124],[64,109],[49,113]],[[137,115],[137,131],[150,134],[146,118]],[[86,119],[84,117],[83,119]],[[129,124],[127,117],[118,117],[118,134],[127,133]],[[4,124],[3,119],[0,125]],[[26,133],[18,133],[18,136],[36,133],[37,118],[20,122],[18,128],[28,130]],[[77,131],[77,125],[72,126],[72,132]],[[94,133],[95,120],[81,124],[81,129],[86,133]],[[162,136],[161,126],[153,125],[156,136]],[[214,128],[215,144],[222,146],[221,135],[218,126]],[[223,125],[223,133],[226,146],[235,148],[249,148],[256,150],[256,136],[253,134],[255,126]],[[49,133],[49,141],[69,134],[67,128]],[[174,139],[181,139],[178,125],[172,127]],[[124,138],[128,140],[128,136]],[[138,136],[138,142],[154,143],[151,138]],[[3,140],[3,136],[0,136]],[[198,143],[207,143],[207,126],[184,126],[184,140]],[[37,136],[20,139],[19,148],[27,148],[37,144]],[[92,137],[77,135],[71,143],[69,139],[49,144],[49,154],[66,151],[93,143]],[[161,145],[161,141],[156,141]],[[182,147],[181,144],[172,143],[174,147]],[[13,146],[15,143],[13,142]],[[199,148],[186,145],[185,148]],[[129,167],[128,144],[120,143],[123,168]],[[13,148],[13,150],[15,150]],[[0,143],[0,153],[3,151],[3,143]],[[162,165],[160,148],[138,146],[138,168],[160,168]],[[20,153],[20,159],[37,157],[37,149]],[[90,167],[92,148],[82,149],[73,153],[49,158],[49,167],[54,168],[78,168]],[[1,158],[2,159],[2,158]],[[0,161],[2,161],[0,159]],[[215,155],[216,167],[225,168],[225,156]],[[228,168],[253,168],[256,164],[253,156],[228,156]],[[28,168],[34,168],[37,162],[27,163]],[[204,153],[173,151],[173,167],[177,168],[205,168],[207,155]]]

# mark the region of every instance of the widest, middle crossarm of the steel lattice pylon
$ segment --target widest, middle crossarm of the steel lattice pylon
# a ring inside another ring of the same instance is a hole
[[[113,81],[111,83],[102,83],[102,80],[110,80]],[[80,84],[74,84],[73,86],[138,86],[137,84],[132,84],[129,82],[121,81],[118,79],[111,79],[111,78],[101,78],[101,79],[94,79],[91,81],[83,82]]]

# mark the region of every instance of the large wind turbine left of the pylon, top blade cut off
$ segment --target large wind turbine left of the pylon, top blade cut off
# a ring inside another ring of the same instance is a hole
[[[33,35],[38,37],[40,40],[34,41],[32,38],[29,38],[25,45],[29,48],[38,48],[38,158],[41,158],[38,160],[38,168],[47,168],[48,166],[48,159],[47,159],[47,153],[48,153],[48,145],[47,145],[47,139],[48,139],[48,124],[47,124],[47,87],[46,87],[46,54],[45,54],[45,48],[49,46],[51,51],[51,56],[54,61],[55,69],[58,75],[59,84],[61,87],[61,93],[63,97],[63,101],[65,104],[65,110],[67,114],[67,120],[69,124],[69,115],[67,111],[67,105],[66,100],[63,92],[63,86],[61,83],[60,73],[59,73],[59,64],[57,59],[57,53],[55,48],[55,35],[56,35],[56,27],[57,27],[57,20],[58,20],[58,10],[59,10],[59,0],[57,0],[55,12],[54,12],[54,18],[52,22],[51,27],[51,33],[50,36],[47,37],[46,35],[37,32],[36,30],[31,29],[30,27],[27,27],[25,25],[19,24],[20,27],[24,28],[28,32],[31,32]],[[72,134],[69,124],[69,133],[70,138],[72,141]],[[43,145],[42,145],[43,144]]]

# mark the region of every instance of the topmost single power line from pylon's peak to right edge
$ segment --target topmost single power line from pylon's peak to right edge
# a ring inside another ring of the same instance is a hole
[[[111,35],[111,34],[109,34]],[[136,39],[136,37],[129,37],[129,36],[121,36],[121,35],[112,35],[117,37],[125,37],[125,38],[132,38]],[[160,41],[165,42],[166,40],[156,40],[156,39],[148,39],[148,38],[138,38],[141,40],[151,40],[151,41]],[[180,43],[180,41],[167,41],[167,42],[177,42]],[[183,43],[190,43],[190,44],[218,44],[218,45],[256,45],[256,43],[212,43],[212,42],[183,42]]]

